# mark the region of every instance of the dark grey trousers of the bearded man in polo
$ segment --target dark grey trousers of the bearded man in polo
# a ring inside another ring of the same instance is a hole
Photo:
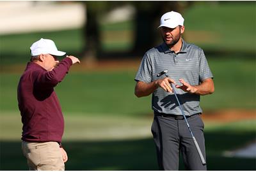
[[[193,115],[188,118],[188,123],[205,158],[204,122],[200,115]],[[202,165],[184,119],[155,115],[151,131],[160,170],[179,170],[180,152],[187,170],[207,170],[206,165]]]

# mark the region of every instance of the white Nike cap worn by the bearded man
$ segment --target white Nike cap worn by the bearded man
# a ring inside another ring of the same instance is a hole
[[[175,11],[170,11],[168,13],[164,13],[164,15],[161,17],[160,25],[159,27],[169,27],[169,28],[175,28],[178,25],[183,25],[184,18],[180,13],[177,13]],[[159,28],[158,27],[158,28]]]

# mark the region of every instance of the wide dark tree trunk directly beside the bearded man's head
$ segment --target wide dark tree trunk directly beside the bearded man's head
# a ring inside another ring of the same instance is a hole
[[[168,11],[182,12],[179,1],[135,1],[135,42],[132,54],[141,55],[161,43],[157,27],[161,16]]]

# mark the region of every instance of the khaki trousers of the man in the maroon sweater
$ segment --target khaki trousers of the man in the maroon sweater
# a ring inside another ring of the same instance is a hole
[[[22,141],[22,152],[28,160],[29,170],[65,170],[60,145],[55,141],[44,143]]]

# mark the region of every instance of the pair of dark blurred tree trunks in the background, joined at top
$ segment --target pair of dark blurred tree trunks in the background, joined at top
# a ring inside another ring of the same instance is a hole
[[[87,61],[104,55],[100,46],[100,16],[118,6],[131,4],[135,8],[134,43],[130,55],[141,55],[154,47],[160,36],[157,32],[161,15],[167,11],[182,13],[193,1],[84,1],[86,6],[86,24],[84,25],[83,57]]]

